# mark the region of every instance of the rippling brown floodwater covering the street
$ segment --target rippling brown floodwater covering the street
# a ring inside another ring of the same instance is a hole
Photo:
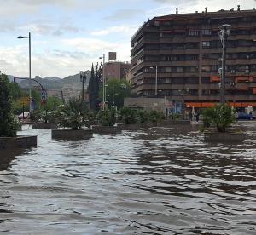
[[[188,127],[22,135],[38,148],[0,152],[1,234],[256,234],[256,129],[238,145]]]

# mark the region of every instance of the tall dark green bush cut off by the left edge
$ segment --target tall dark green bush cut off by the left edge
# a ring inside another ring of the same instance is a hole
[[[9,91],[9,79],[0,72],[0,136],[15,136],[18,123],[12,113],[12,99]]]

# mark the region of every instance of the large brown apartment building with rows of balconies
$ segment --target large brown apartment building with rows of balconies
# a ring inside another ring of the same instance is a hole
[[[218,32],[224,24],[232,26],[225,100],[237,107],[256,106],[256,10],[239,6],[218,12],[206,8],[202,13],[177,13],[145,22],[131,38],[131,92],[166,97],[184,106],[218,102],[222,57]]]

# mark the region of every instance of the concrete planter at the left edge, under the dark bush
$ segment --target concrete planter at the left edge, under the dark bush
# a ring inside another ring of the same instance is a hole
[[[38,145],[38,136],[0,137],[0,149],[15,149],[36,147]]]

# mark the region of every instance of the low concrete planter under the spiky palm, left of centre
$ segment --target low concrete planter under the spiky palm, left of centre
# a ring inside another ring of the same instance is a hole
[[[62,140],[83,140],[93,136],[91,129],[52,129],[51,137]]]

